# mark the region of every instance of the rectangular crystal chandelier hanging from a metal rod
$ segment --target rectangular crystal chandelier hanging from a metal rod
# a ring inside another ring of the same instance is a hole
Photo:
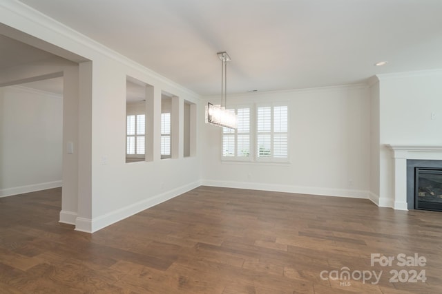
[[[221,104],[213,105],[207,103],[206,105],[206,123],[218,125],[220,127],[229,127],[236,129],[238,121],[235,112],[226,109],[227,104],[227,63],[231,61],[227,52],[218,52],[218,57],[221,60]]]

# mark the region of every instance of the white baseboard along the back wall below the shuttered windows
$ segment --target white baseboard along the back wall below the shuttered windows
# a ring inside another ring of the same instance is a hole
[[[211,186],[211,187],[251,189],[251,190],[262,190],[262,191],[320,195],[320,196],[336,196],[336,197],[369,199],[369,191],[354,190],[354,189],[333,189],[333,188],[320,188],[320,187],[263,184],[259,182],[230,182],[230,181],[219,181],[219,180],[202,180],[201,185]]]

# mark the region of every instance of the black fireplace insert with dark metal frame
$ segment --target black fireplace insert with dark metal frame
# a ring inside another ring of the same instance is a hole
[[[442,211],[442,169],[414,169],[414,209]]]

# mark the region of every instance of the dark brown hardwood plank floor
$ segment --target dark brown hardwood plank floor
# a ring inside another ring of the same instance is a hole
[[[61,189],[0,198],[0,293],[442,291],[438,212],[199,187],[88,234],[60,209]]]

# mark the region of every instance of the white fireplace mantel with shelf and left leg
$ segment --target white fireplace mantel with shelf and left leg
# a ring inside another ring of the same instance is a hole
[[[442,160],[441,145],[387,144],[394,154],[394,209],[407,210],[407,159]]]

